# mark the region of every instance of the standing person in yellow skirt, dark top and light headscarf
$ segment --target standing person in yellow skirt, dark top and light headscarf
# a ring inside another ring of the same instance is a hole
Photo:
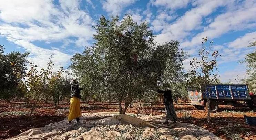
[[[69,83],[71,85],[71,99],[70,99],[70,107],[69,107],[69,116],[68,121],[71,123],[73,119],[76,118],[77,123],[79,123],[80,119],[80,90],[78,82],[75,79],[72,79]]]

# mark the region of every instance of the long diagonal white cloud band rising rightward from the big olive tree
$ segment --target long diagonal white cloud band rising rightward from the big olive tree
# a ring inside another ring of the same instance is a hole
[[[195,8],[187,11],[174,23],[164,26],[162,33],[155,38],[157,42],[166,42],[169,40],[183,40],[190,31],[200,28],[203,17],[208,16],[217,7],[225,6],[233,1],[211,0],[207,2],[194,3]],[[158,27],[159,28],[159,27]]]

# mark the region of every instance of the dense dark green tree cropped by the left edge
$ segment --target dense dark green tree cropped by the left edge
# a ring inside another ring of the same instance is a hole
[[[26,75],[26,63],[29,53],[12,51],[4,54],[4,47],[0,45],[0,98],[10,102],[16,97],[23,97],[26,89],[22,79]]]

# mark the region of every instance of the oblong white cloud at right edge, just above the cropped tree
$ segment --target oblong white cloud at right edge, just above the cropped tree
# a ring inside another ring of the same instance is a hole
[[[256,40],[256,32],[247,33],[243,37],[239,37],[236,40],[229,42],[228,47],[234,49],[245,48],[254,40]]]

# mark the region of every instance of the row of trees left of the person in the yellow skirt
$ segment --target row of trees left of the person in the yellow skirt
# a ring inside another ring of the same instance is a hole
[[[53,101],[56,106],[60,100],[69,98],[70,79],[63,76],[64,69],[53,73],[54,65],[49,58],[48,67],[37,70],[37,65],[27,60],[29,53],[13,51],[4,54],[4,46],[0,45],[0,99],[11,102],[23,99],[27,105],[34,100]],[[27,65],[30,66],[29,70]]]

